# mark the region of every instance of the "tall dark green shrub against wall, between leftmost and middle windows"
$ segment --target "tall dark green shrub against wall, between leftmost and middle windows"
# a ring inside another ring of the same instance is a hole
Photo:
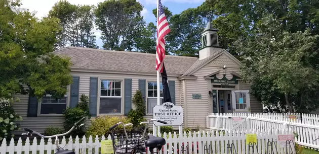
[[[83,117],[91,117],[89,113],[89,98],[84,94],[80,97],[81,102],[77,103],[75,108],[66,108],[63,112],[65,121],[63,123],[64,129],[68,131],[72,128],[75,122],[80,120]],[[83,121],[83,123],[85,120]],[[84,135],[85,130],[84,127],[73,130],[71,135]]]

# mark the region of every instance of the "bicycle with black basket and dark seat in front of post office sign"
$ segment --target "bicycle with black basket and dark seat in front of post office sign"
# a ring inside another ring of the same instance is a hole
[[[144,153],[146,151],[146,147],[149,147],[149,151],[151,154],[154,153],[154,148],[157,151],[162,149],[162,146],[166,144],[166,140],[163,137],[155,137],[151,134],[145,136],[146,129],[148,128],[150,121],[157,121],[163,124],[167,124],[165,121],[150,119],[148,121],[143,121],[141,124],[147,124],[144,130],[140,131],[139,129],[131,131],[131,134],[128,134],[125,127],[132,126],[132,123],[124,124],[123,122],[118,122],[109,128],[111,131],[111,139],[113,144],[113,152],[121,153],[121,154],[135,154],[135,153]],[[123,130],[115,131],[115,127],[118,125],[123,126]],[[112,131],[114,129],[114,131]],[[124,134],[123,134],[124,132]],[[125,135],[125,136],[124,136]]]

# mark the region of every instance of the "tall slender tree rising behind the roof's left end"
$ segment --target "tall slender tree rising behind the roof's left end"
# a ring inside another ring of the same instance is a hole
[[[57,36],[58,42],[56,44],[56,48],[64,48],[67,42],[67,33],[68,33],[68,24],[72,20],[72,16],[76,12],[76,6],[71,5],[66,0],[60,0],[55,3],[52,7],[52,10],[49,11],[49,17],[56,17],[60,19],[60,24],[62,26],[62,31]]]

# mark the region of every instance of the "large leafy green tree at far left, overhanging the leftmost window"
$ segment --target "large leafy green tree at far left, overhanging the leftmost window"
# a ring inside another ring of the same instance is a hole
[[[16,93],[62,98],[72,76],[69,59],[53,54],[59,19],[37,21],[19,7],[10,0],[0,3],[0,98]]]

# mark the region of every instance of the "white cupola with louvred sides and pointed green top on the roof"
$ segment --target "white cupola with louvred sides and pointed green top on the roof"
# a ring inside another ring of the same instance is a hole
[[[218,29],[208,22],[206,28],[202,32],[202,48],[200,49],[200,60],[205,59],[221,50],[219,47]]]

